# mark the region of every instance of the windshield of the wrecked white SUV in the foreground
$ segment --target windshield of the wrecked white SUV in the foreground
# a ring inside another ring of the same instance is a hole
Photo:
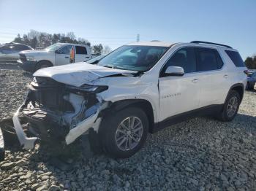
[[[115,69],[148,71],[168,47],[123,46],[102,58],[98,65]]]

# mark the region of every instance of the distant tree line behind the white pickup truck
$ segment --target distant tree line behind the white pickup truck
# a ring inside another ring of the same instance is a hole
[[[76,38],[73,32],[68,32],[67,34],[48,34],[45,32],[30,30],[28,34],[23,34],[23,36],[20,36],[20,34],[18,34],[12,42],[26,44],[33,47],[34,49],[43,49],[57,42],[85,44],[91,47],[91,42],[89,42],[87,39],[83,39],[80,37]],[[103,47],[102,44],[96,44],[92,46],[91,50],[94,52],[94,54],[97,55],[100,55],[102,53],[109,53],[111,51],[110,47],[108,47],[107,45]]]

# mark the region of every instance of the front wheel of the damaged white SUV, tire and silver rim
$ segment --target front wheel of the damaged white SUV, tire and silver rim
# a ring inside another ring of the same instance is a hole
[[[132,125],[128,125],[129,120],[134,121],[133,128]],[[143,110],[135,107],[108,115],[101,124],[101,145],[110,157],[127,158],[135,155],[143,147],[148,136],[148,117]]]

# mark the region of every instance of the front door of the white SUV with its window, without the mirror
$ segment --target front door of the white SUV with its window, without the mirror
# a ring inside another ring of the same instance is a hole
[[[184,69],[182,77],[159,77],[159,121],[176,114],[197,109],[200,88],[196,77],[196,59],[193,47],[177,50],[165,63],[167,66],[180,66]]]

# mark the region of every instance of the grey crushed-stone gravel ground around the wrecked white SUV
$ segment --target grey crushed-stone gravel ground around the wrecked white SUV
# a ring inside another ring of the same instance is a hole
[[[0,70],[0,119],[22,104],[31,75]],[[0,126],[5,125],[3,122]],[[0,190],[256,190],[256,91],[246,92],[233,122],[195,118],[154,135],[129,159],[91,155],[83,141],[72,156],[52,146],[7,145]]]

